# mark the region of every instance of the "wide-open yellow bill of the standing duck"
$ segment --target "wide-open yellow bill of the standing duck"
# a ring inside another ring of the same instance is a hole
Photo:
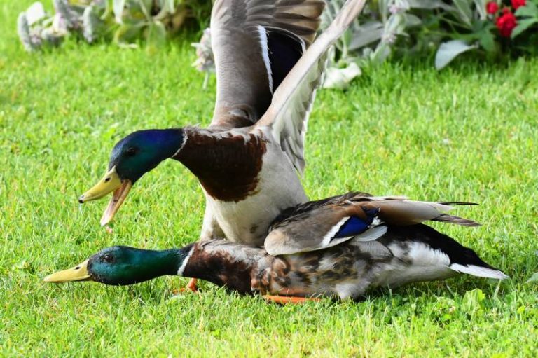
[[[90,200],[97,200],[103,198],[104,195],[113,192],[109,205],[106,207],[101,218],[101,225],[105,226],[112,221],[114,215],[125,201],[125,198],[127,198],[127,194],[129,194],[131,188],[132,181],[122,181],[116,172],[116,167],[112,167],[111,170],[104,174],[103,179],[101,179],[99,183],[78,198],[78,202],[82,204],[83,202]]]

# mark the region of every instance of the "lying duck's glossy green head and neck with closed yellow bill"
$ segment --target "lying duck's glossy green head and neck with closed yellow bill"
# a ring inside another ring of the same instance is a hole
[[[190,247],[162,251],[114,246],[102,249],[74,268],[48,275],[53,283],[95,281],[125,285],[144,282],[163,275],[177,275]]]

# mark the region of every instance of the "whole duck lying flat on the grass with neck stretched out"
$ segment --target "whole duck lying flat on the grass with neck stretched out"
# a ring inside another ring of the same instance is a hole
[[[258,292],[270,301],[298,303],[321,296],[357,298],[375,287],[443,280],[457,273],[507,278],[472,249],[421,223],[478,225],[442,213],[450,204],[468,203],[348,193],[283,212],[271,226],[265,249],[228,240],[162,251],[116,246],[44,280],[125,285],[179,275],[241,294]],[[305,251],[296,252],[295,245]]]

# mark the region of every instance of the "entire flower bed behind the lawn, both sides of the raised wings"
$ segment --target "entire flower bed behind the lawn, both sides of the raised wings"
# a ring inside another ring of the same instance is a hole
[[[323,30],[345,0],[326,0]],[[90,43],[112,40],[123,47],[156,48],[187,23],[203,29],[212,1],[53,0],[55,14],[34,3],[18,19],[27,50],[56,46],[64,37]],[[538,52],[538,0],[371,0],[329,56],[324,86],[345,88],[365,64],[390,57],[434,57],[437,69],[473,51],[481,57]],[[195,43],[195,66],[214,71],[209,29]]]

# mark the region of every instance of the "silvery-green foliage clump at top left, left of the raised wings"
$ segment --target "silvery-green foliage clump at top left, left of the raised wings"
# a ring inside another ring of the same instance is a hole
[[[113,33],[120,46],[137,46],[141,37],[149,48],[165,42],[167,32],[183,24],[188,11],[183,0],[53,0],[55,14],[37,1],[18,18],[18,34],[26,50],[56,45],[69,34],[92,43]]]

